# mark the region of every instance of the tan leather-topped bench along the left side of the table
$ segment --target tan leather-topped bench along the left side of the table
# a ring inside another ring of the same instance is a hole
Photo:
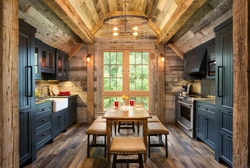
[[[91,147],[104,147],[104,157],[106,158],[106,122],[94,122],[87,129],[86,134],[88,135],[88,146],[87,146],[87,157],[89,157],[89,151]],[[90,144],[90,135],[93,135],[92,143]],[[96,143],[96,136],[104,136],[104,144]]]

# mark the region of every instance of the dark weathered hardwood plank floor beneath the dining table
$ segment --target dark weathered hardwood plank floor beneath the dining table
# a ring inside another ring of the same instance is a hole
[[[67,132],[61,133],[53,143],[47,144],[37,152],[37,160],[26,168],[108,168],[104,158],[103,148],[92,148],[90,158],[87,158],[88,125],[75,124]],[[144,163],[145,168],[223,168],[226,165],[215,161],[213,152],[202,142],[189,138],[176,125],[167,125],[168,158],[162,147],[151,148],[151,158]],[[132,135],[132,130],[121,130],[121,135]],[[164,137],[163,137],[164,138]],[[153,138],[152,138],[153,139]],[[98,137],[103,141],[103,137]],[[157,140],[157,138],[155,138]],[[163,141],[164,142],[164,141]],[[128,156],[122,156],[128,157]],[[130,158],[133,156],[129,156]],[[112,157],[111,157],[112,161]],[[129,164],[138,167],[138,164]],[[126,164],[117,164],[117,168]]]

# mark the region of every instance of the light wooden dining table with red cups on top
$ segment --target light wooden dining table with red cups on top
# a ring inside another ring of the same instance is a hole
[[[142,122],[143,123],[143,140],[145,147],[147,148],[147,130],[148,130],[148,118],[152,118],[148,111],[144,107],[123,106],[120,108],[110,107],[103,118],[106,119],[106,132],[107,132],[107,149],[108,149],[108,161],[110,162],[110,144],[112,133],[112,122]],[[147,153],[144,154],[144,162],[147,160]]]

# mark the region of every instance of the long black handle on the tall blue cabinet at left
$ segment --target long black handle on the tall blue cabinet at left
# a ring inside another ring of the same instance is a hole
[[[29,73],[28,73],[29,71]],[[32,97],[32,92],[33,92],[33,73],[32,73],[32,66],[25,66],[25,96],[26,97]],[[28,88],[30,88],[28,90]]]

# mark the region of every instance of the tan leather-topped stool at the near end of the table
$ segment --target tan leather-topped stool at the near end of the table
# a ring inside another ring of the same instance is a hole
[[[139,163],[140,168],[143,168],[142,154],[146,153],[146,147],[140,137],[115,137],[112,139],[110,153],[114,155],[113,168],[116,163]],[[117,155],[138,155],[138,159],[117,159]]]

